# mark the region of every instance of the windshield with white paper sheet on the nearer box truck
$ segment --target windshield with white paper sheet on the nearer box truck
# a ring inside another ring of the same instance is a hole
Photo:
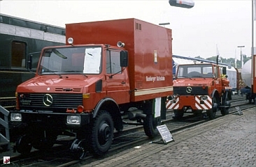
[[[66,47],[45,49],[39,74],[99,74],[101,47]]]

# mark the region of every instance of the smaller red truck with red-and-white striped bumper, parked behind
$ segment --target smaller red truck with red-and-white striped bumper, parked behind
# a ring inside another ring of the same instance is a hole
[[[173,109],[173,118],[179,119],[185,112],[203,113],[209,119],[214,119],[217,111],[223,116],[228,114],[232,87],[226,72],[218,61],[178,65],[173,95],[167,102],[167,108]]]

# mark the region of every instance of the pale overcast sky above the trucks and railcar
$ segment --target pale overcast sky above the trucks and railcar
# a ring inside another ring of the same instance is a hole
[[[175,55],[238,59],[241,51],[251,55],[252,0],[194,0],[193,8],[170,6],[169,0],[0,0],[0,13],[61,27],[125,18],[169,22],[165,27],[172,29]],[[254,47],[255,43],[254,39]]]

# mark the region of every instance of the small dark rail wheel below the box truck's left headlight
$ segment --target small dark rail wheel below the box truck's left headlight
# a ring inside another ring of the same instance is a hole
[[[20,154],[27,155],[30,153],[32,148],[30,138],[28,136],[21,136],[17,138],[17,141],[15,143],[15,149],[17,152],[20,152]]]

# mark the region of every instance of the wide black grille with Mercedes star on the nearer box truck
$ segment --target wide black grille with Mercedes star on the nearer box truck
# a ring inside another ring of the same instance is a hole
[[[52,97],[52,104],[45,106],[43,94],[23,93],[18,95],[20,109],[76,109],[78,105],[83,105],[82,94],[49,94]]]

